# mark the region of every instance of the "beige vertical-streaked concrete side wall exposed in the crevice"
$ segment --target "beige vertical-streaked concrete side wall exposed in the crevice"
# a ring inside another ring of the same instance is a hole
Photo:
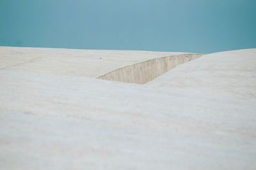
[[[197,59],[203,54],[185,53],[147,60],[131,66],[121,67],[102,76],[99,79],[110,81],[122,81],[125,83],[143,84],[152,81],[170,69],[184,62]]]

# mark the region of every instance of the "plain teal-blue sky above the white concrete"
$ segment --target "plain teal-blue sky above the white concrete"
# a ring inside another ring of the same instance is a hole
[[[255,0],[0,0],[0,46],[256,48]]]

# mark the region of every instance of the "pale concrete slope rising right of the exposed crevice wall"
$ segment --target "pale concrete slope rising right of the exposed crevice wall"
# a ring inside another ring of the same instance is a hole
[[[147,85],[256,97],[256,48],[203,55]]]

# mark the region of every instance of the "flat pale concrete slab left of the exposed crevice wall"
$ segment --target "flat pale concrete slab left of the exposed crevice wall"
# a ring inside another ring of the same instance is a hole
[[[0,70],[96,78],[120,67],[179,54],[182,53],[0,46]]]

